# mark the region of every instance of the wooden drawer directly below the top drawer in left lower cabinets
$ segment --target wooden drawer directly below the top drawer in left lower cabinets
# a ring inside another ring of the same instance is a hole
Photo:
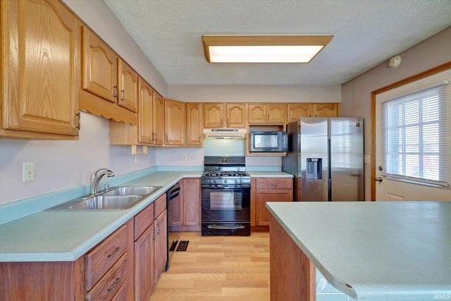
[[[86,293],[86,300],[112,300],[121,289],[127,292],[127,254],[124,254],[113,267],[106,272],[94,288]],[[125,299],[123,299],[125,300]]]

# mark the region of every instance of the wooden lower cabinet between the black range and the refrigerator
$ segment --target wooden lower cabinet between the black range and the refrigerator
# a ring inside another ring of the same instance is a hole
[[[251,226],[268,231],[271,214],[266,202],[292,202],[292,178],[251,178]]]

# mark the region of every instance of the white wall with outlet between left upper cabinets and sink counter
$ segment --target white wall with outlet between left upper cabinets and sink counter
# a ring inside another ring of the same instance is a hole
[[[156,165],[153,148],[150,156],[132,156],[128,146],[109,145],[108,120],[82,113],[81,125],[78,141],[1,139],[0,204],[87,185],[98,168],[109,168],[120,176]],[[25,162],[35,163],[34,181],[23,182]]]

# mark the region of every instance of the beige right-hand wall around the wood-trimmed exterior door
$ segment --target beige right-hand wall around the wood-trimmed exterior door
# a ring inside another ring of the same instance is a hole
[[[390,68],[388,61],[385,61],[342,85],[342,116],[354,115],[365,118],[365,154],[373,155],[371,153],[371,92],[451,61],[451,27],[407,49],[400,56],[402,60],[399,67]],[[365,199],[371,199],[371,166],[369,164],[365,164]]]

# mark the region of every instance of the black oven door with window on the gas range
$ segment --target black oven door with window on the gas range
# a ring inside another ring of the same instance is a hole
[[[250,188],[202,188],[202,222],[250,220]]]

